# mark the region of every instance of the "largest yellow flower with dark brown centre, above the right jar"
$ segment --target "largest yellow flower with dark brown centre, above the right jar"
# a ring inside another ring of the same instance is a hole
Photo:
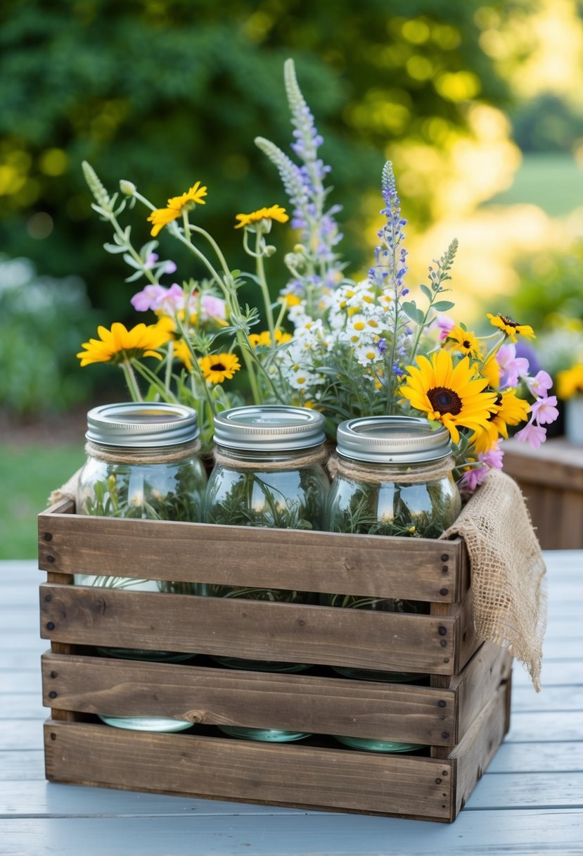
[[[418,367],[417,367],[418,366]],[[407,366],[409,377],[399,389],[411,407],[427,413],[428,419],[443,423],[454,443],[458,426],[479,431],[487,427],[497,395],[485,392],[485,377],[476,377],[468,357],[453,365],[449,351],[433,354],[431,361],[417,357],[417,366]]]

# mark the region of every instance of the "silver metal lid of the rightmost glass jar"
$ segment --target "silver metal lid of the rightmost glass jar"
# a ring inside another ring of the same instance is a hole
[[[451,454],[450,432],[413,416],[370,416],[340,423],[337,452],[355,461],[415,464]]]

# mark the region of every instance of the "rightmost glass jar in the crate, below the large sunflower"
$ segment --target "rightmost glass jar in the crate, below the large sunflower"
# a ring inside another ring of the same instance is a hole
[[[336,473],[327,498],[327,529],[404,538],[439,538],[462,500],[452,477],[451,438],[427,419],[376,416],[339,425]],[[427,614],[429,604],[404,598],[322,595],[321,603],[350,609]],[[334,667],[350,678],[412,683],[427,675]],[[377,752],[419,748],[392,741],[339,737]],[[406,746],[406,748],[403,748]]]

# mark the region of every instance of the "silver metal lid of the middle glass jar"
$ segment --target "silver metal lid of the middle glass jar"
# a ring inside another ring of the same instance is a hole
[[[228,449],[285,452],[324,443],[324,417],[307,407],[262,404],[215,416],[215,443]]]

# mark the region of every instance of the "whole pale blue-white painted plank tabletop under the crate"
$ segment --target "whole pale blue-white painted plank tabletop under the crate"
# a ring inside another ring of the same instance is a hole
[[[46,782],[44,574],[0,562],[0,856],[583,856],[583,550],[545,560],[542,692],[515,663],[509,734],[452,824]]]

